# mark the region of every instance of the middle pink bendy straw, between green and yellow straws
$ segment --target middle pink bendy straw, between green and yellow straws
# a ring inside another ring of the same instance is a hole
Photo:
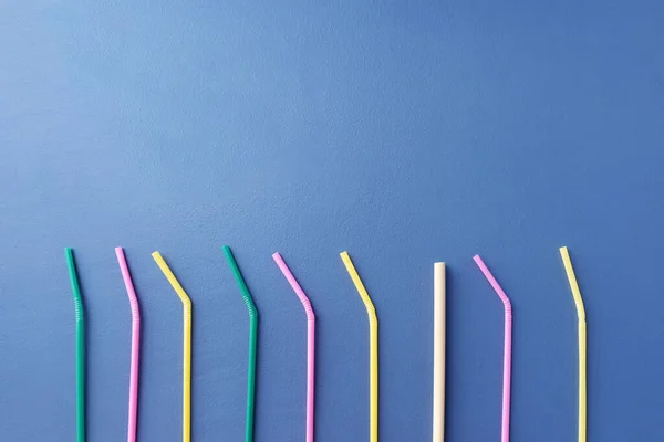
[[[292,272],[283,261],[279,252],[272,255],[272,259],[288,280],[295,295],[304,307],[307,314],[307,442],[313,442],[313,392],[314,392],[314,359],[315,359],[315,314],[309,302],[309,297],[293,276]]]

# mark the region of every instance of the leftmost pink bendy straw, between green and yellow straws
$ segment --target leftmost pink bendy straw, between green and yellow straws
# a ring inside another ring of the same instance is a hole
[[[127,296],[129,297],[129,307],[132,308],[132,362],[129,368],[129,417],[127,424],[127,442],[136,442],[136,422],[138,417],[138,364],[141,356],[141,309],[138,298],[132,282],[132,274],[127,265],[127,260],[122,248],[115,248],[115,255],[122,272]]]

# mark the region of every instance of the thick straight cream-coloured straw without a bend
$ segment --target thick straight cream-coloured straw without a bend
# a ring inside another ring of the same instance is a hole
[[[434,263],[434,429],[433,442],[445,440],[445,263]]]

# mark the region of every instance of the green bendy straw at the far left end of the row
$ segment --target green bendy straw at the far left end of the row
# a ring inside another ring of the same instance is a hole
[[[64,249],[76,314],[76,442],[85,441],[85,311],[72,249]]]

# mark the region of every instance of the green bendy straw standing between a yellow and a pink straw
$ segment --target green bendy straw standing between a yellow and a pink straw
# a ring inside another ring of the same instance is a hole
[[[224,246],[224,254],[226,255],[226,261],[228,261],[228,265],[230,265],[230,270],[232,271],[238,285],[240,286],[242,298],[245,299],[245,304],[247,304],[247,311],[249,312],[249,364],[247,367],[247,419],[245,421],[245,441],[251,442],[253,441],[253,401],[256,396],[256,345],[258,336],[258,311],[253,304],[253,298],[251,297],[249,287],[247,287],[247,283],[242,277],[240,267],[238,267],[238,263],[236,262],[235,256],[232,255],[232,252],[228,245]]]

